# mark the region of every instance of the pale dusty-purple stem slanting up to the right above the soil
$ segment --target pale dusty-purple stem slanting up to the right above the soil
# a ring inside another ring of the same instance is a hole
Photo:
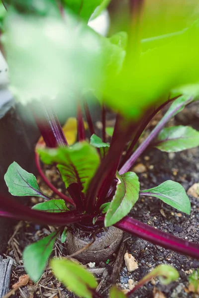
[[[173,109],[170,112],[167,112],[165,116],[162,118],[162,120],[156,125],[156,127],[152,130],[150,135],[144,140],[144,142],[138,147],[138,149],[135,150],[135,152],[131,155],[131,157],[124,163],[124,165],[119,170],[119,174],[122,175],[129,171],[131,167],[134,165],[135,161],[138,159],[138,157],[144,152],[144,150],[149,146],[151,141],[155,139],[160,131],[163,129],[165,124],[170,120],[170,118],[175,115],[179,109],[181,109],[185,104],[188,104],[193,99],[190,98],[186,102],[182,102],[179,104],[175,109]]]

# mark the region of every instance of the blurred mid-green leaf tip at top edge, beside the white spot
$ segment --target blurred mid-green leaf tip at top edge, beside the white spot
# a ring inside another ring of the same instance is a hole
[[[71,9],[75,14],[80,15],[86,22],[89,21],[92,13],[101,4],[102,0],[62,0],[63,5]]]

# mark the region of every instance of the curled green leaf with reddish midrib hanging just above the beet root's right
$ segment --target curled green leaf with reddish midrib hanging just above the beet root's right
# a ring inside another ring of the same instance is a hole
[[[126,216],[139,197],[139,180],[135,173],[117,174],[118,178],[115,195],[105,215],[104,224],[109,226]]]

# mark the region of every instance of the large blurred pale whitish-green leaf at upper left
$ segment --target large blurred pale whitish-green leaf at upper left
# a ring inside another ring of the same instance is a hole
[[[69,13],[41,17],[7,13],[2,36],[10,89],[26,103],[33,99],[71,102],[93,89],[101,76],[101,41],[96,32]],[[98,70],[96,72],[96,70]]]

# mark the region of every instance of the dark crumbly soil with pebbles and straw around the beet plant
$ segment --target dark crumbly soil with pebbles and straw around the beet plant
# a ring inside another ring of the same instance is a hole
[[[171,123],[175,125],[183,124],[191,126],[193,124],[193,127],[199,130],[199,104],[195,103],[187,107],[176,117],[175,121],[172,120],[170,124]],[[156,124],[155,121],[153,124]],[[142,167],[143,165],[145,166],[145,170],[142,170],[142,173],[137,173],[141,189],[151,188],[157,186],[165,180],[171,179],[181,183],[187,191],[194,183],[199,182],[199,148],[169,154],[161,152],[158,149],[150,148],[145,151],[145,153],[137,161],[137,164],[138,166],[135,167],[136,170],[139,169],[140,165],[142,165]],[[60,190],[63,188],[62,182],[57,179],[58,176],[56,169],[47,169],[46,174],[54,180],[54,184],[58,186]],[[52,192],[47,190],[45,185],[41,183],[39,177],[38,181],[44,192],[48,192],[49,195],[52,195]],[[56,196],[54,197],[56,198]],[[156,198],[142,196],[132,209],[130,216],[143,223],[152,225],[163,231],[167,231],[175,236],[193,242],[199,242],[199,198],[190,197],[190,200],[192,211],[191,215],[188,216],[178,212]],[[32,198],[32,203],[35,204],[36,202],[38,202],[38,198]],[[17,226],[15,234],[9,241],[6,254],[14,259],[11,285],[17,282],[20,275],[24,274],[21,260],[21,252],[23,248],[33,241],[42,238],[44,235],[48,235],[53,231],[53,229],[53,227],[41,227],[39,225],[29,223],[20,223]],[[188,276],[194,270],[199,268],[199,260],[155,246],[145,240],[131,235],[129,235],[126,243],[127,251],[131,253],[138,262],[138,269],[129,273],[123,264],[117,280],[118,287],[121,289],[129,289],[129,279],[136,283],[153,268],[159,264],[165,263],[174,266],[179,271],[179,280],[171,283],[169,286],[163,286],[159,283],[158,279],[155,279],[135,292],[132,297],[154,298],[155,296],[153,292],[155,288],[162,292],[166,298],[198,297],[196,294],[194,295],[188,291]],[[53,255],[67,255],[66,248],[60,240],[58,240],[55,245],[52,256]],[[114,261],[114,257],[112,260]],[[121,259],[121,262],[123,262],[123,259]],[[108,280],[111,275],[111,262],[108,266],[104,264],[96,264],[96,266],[106,266],[107,268],[108,274],[100,289],[102,296],[107,297],[110,287]],[[98,278],[100,282],[102,277],[99,276]],[[16,292],[13,297],[65,298],[75,296],[72,293],[69,293],[64,286],[55,280],[50,269],[47,269],[41,280],[36,285],[27,285],[22,288],[20,292]],[[157,298],[163,297],[164,296],[157,296]]]

